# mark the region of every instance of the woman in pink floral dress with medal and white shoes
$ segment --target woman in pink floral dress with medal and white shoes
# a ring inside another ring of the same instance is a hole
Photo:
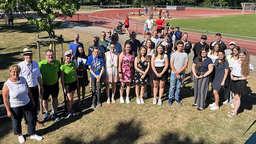
[[[131,81],[133,76],[133,63],[134,62],[134,52],[132,52],[131,44],[126,42],[124,44],[124,50],[119,56],[119,78],[121,82],[120,86],[120,103],[124,103],[123,92],[124,85],[126,88],[126,103],[130,103],[129,94],[131,88]]]

